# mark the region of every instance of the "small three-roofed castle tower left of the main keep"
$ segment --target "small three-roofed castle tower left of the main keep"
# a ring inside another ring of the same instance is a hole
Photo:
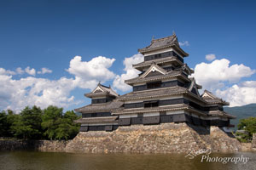
[[[91,99],[90,105],[75,109],[82,113],[82,118],[75,121],[81,123],[80,131],[112,131],[118,127],[118,116],[112,116],[111,111],[123,105],[122,102],[113,101],[119,94],[112,88],[98,83],[97,87],[85,97]]]

